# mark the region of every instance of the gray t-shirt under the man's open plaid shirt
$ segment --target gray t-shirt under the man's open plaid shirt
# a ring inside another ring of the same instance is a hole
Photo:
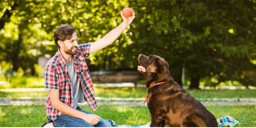
[[[67,63],[67,73],[70,76],[70,81],[72,84],[73,98],[74,98],[74,109],[77,108],[77,103],[84,103],[83,89],[80,84],[80,80],[76,75],[73,58],[71,58],[70,63]],[[57,90],[45,88],[45,90]]]

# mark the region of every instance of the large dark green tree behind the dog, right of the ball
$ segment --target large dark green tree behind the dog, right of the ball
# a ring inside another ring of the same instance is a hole
[[[215,77],[217,83],[233,80],[230,74],[245,70],[241,64],[251,65],[247,71],[255,69],[248,61],[255,47],[253,1],[138,0],[135,5],[143,14],[137,17],[142,25],[134,28],[135,47],[166,58],[171,74],[180,74],[186,65],[190,88],[198,89],[205,77]]]

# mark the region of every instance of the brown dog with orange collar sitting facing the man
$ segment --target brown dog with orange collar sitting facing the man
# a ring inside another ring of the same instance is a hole
[[[140,54],[138,61],[147,79],[150,127],[218,127],[215,116],[173,80],[163,58]]]

